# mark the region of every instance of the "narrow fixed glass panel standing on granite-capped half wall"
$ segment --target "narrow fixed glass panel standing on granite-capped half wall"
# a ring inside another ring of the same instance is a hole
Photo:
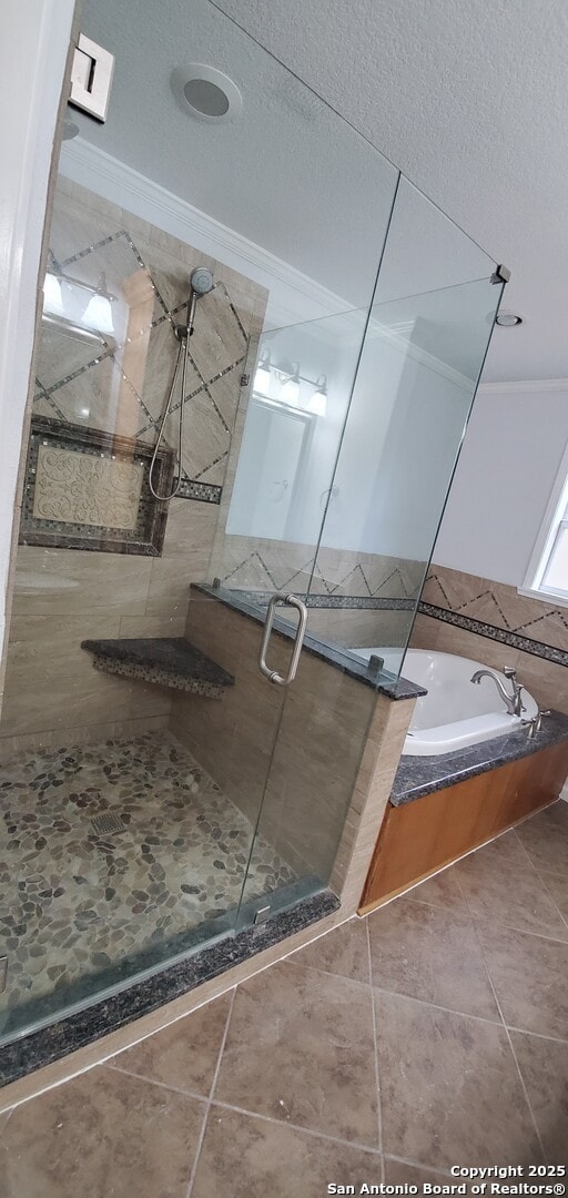
[[[501,298],[494,271],[401,179],[309,588],[324,635],[394,678]]]

